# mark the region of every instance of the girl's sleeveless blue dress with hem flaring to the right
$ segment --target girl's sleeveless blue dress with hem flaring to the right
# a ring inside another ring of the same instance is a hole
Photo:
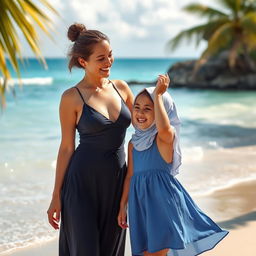
[[[133,148],[132,156],[128,215],[133,255],[169,248],[170,256],[194,256],[212,249],[228,234],[169,173],[156,139],[147,150]]]

